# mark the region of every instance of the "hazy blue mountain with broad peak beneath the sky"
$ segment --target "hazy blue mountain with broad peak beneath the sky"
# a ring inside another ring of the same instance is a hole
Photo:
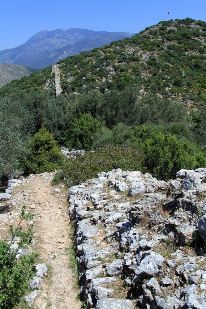
[[[78,28],[42,30],[26,43],[0,51],[0,62],[43,69],[67,56],[89,51],[126,37],[131,38],[134,35],[135,33],[130,32],[92,31]]]

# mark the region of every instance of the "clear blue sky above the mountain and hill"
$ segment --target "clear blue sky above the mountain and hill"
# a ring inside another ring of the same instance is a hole
[[[139,32],[161,20],[206,21],[205,0],[1,0],[0,50],[25,43],[45,29],[84,28]]]

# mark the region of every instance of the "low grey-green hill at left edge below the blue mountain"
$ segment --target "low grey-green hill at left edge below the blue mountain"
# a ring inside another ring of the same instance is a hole
[[[20,66],[14,63],[0,63],[0,88],[11,82],[13,79],[19,79],[23,76],[28,76],[37,69],[29,66]]]

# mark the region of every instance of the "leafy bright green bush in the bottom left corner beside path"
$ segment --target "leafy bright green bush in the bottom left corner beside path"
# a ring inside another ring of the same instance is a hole
[[[19,248],[27,248],[32,241],[32,226],[28,231],[23,232],[21,222],[27,218],[32,218],[31,214],[25,214],[23,206],[20,216],[20,222],[17,228],[10,226],[11,244],[14,243],[15,237],[18,237]],[[6,240],[0,242],[0,308],[13,308],[19,303],[20,297],[24,296],[29,280],[35,275],[36,253],[30,253],[28,256],[21,256],[16,259],[17,250],[11,249],[11,244]]]

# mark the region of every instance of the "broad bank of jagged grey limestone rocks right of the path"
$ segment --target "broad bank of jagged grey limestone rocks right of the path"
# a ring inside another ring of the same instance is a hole
[[[68,198],[88,309],[206,308],[206,169],[101,172]]]

